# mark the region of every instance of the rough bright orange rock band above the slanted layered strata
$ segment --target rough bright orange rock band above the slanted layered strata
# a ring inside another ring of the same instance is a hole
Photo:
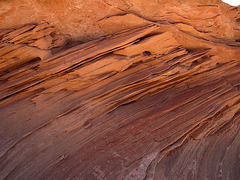
[[[45,20],[61,34],[89,41],[154,21],[178,24],[184,31],[193,28],[204,37],[233,40],[240,39],[238,12],[239,7],[221,0],[0,0],[0,27]]]

